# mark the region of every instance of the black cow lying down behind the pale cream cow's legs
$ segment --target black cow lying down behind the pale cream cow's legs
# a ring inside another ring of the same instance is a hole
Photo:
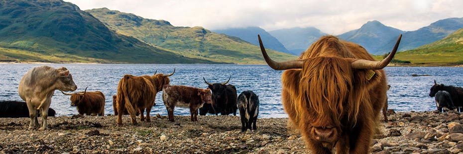
[[[55,116],[52,108],[48,109],[48,116]],[[37,116],[42,114],[37,114]],[[29,118],[29,109],[26,102],[0,101],[0,118]]]

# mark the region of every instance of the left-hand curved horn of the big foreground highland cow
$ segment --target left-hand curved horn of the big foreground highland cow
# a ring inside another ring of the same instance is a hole
[[[265,51],[265,47],[262,43],[262,40],[260,39],[260,35],[257,35],[257,37],[259,38],[260,51],[262,52],[262,56],[270,68],[273,70],[302,69],[302,66],[304,65],[304,61],[302,60],[292,60],[278,63],[270,59],[270,57],[267,55],[267,51]]]

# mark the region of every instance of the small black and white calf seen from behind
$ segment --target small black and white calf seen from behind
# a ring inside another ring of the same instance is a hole
[[[241,131],[256,130],[255,125],[259,114],[259,96],[252,91],[243,91],[238,96],[238,109],[241,116]]]

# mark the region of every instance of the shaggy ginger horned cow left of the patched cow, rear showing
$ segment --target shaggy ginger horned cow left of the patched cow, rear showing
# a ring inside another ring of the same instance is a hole
[[[157,72],[157,71],[156,71]],[[169,75],[157,74],[152,76],[132,76],[125,75],[117,85],[117,113],[123,113],[127,110],[130,114],[131,122],[136,125],[136,112],[140,112],[140,120],[144,121],[144,110],[146,110],[146,121],[151,121],[149,112],[153,107],[156,93],[162,90],[162,86],[169,84],[169,77],[174,75],[174,72]],[[122,114],[117,114],[117,125],[122,125]]]

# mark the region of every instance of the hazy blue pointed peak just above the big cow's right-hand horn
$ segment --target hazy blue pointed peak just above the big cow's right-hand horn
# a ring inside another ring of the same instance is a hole
[[[361,45],[370,54],[378,55],[390,51],[394,44],[387,46],[389,42],[396,41],[397,37],[403,33],[402,30],[386,26],[379,21],[373,20],[363,24],[359,29],[348,31],[338,37]],[[405,38],[405,36],[403,36],[403,38]],[[400,45],[402,45],[402,42]],[[388,50],[382,51],[379,50],[380,48]]]

